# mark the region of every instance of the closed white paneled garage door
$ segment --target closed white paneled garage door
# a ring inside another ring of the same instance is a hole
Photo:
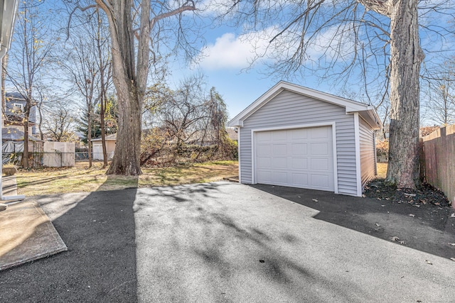
[[[255,181],[333,192],[331,126],[255,133]]]

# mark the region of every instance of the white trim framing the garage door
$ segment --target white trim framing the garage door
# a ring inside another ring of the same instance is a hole
[[[331,126],[332,127],[332,150],[333,150],[333,192],[338,194],[338,156],[336,153],[336,122],[321,122],[321,123],[309,123],[309,124],[299,124],[299,125],[290,125],[290,126],[277,126],[270,128],[254,128],[251,130],[251,184],[256,184],[256,163],[255,163],[255,133],[259,131],[282,131],[288,129],[298,129],[298,128],[313,128],[320,126]],[[239,137],[240,138],[240,137]],[[240,159],[240,155],[239,155]],[[240,163],[240,161],[239,161]],[[240,164],[239,164],[240,165]],[[240,167],[239,167],[240,171]],[[362,190],[360,187],[360,195]]]

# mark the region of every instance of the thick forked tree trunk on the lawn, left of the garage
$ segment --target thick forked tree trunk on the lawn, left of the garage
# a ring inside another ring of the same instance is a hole
[[[117,143],[107,175],[141,175],[141,112],[149,72],[150,2],[143,1],[141,6],[137,65],[134,60],[131,1],[110,1],[112,6],[109,8],[100,2],[102,1],[97,1],[107,13],[109,20],[112,38],[112,79],[119,101]],[[142,22],[144,17],[147,21],[145,24]]]

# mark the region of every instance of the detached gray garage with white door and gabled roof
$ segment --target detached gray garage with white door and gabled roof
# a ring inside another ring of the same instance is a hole
[[[229,126],[238,130],[241,183],[361,196],[376,175],[373,106],[279,82]]]

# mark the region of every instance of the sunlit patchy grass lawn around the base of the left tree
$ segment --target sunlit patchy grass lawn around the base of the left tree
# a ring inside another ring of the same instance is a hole
[[[106,175],[106,168],[95,162],[77,162],[75,167],[19,170],[18,194],[36,196],[66,192],[96,192],[128,187],[215,182],[238,175],[237,161],[216,161],[176,167],[143,168],[139,177]]]

